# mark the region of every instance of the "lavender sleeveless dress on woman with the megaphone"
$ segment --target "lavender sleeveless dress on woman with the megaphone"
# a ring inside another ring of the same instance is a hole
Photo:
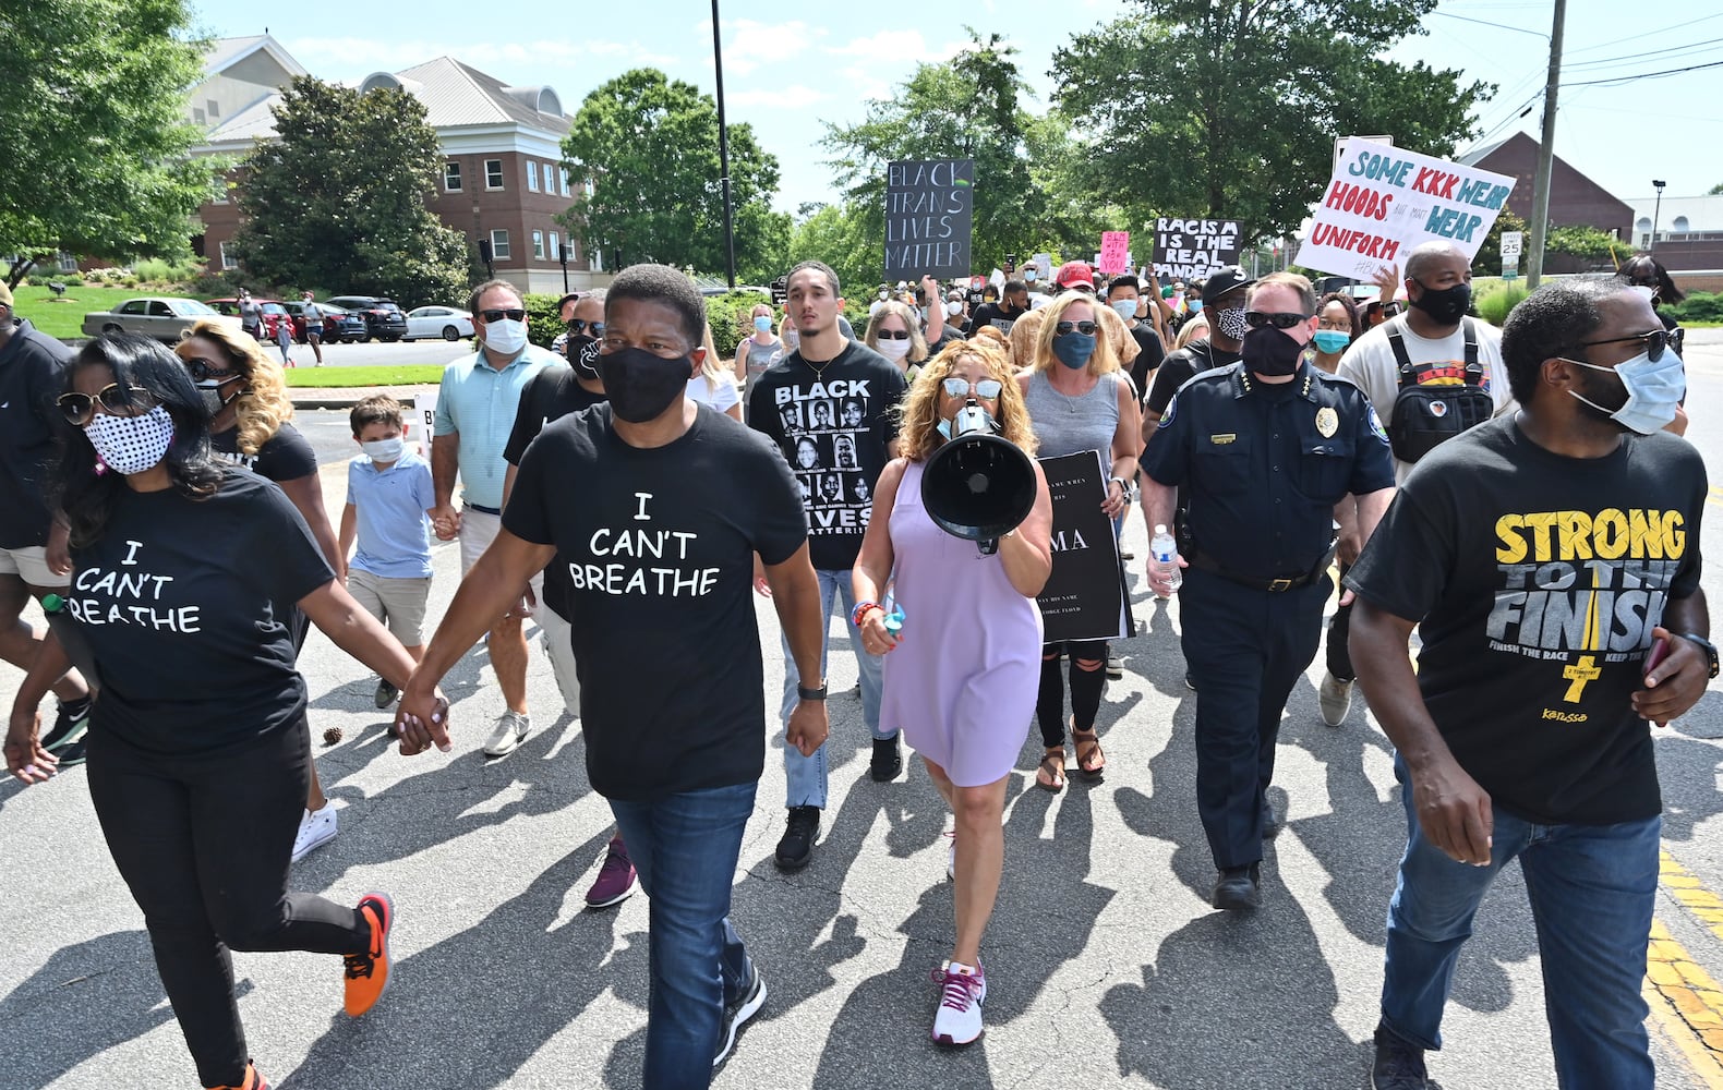
[[[958,787],[1017,765],[1041,687],[1041,610],[999,556],[946,534],[922,508],[911,461],[891,508],[903,644],[886,656],[880,730],[903,737]]]

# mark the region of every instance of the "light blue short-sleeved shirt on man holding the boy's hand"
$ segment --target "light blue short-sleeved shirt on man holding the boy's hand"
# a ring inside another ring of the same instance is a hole
[[[479,506],[503,506],[503,448],[515,427],[520,391],[538,372],[562,363],[538,344],[527,344],[508,367],[496,370],[484,360],[484,350],[443,368],[443,389],[436,396],[434,436],[460,432],[462,498]]]

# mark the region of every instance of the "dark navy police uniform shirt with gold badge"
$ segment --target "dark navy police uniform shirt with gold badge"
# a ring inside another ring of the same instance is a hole
[[[1196,549],[1251,579],[1309,572],[1334,542],[1334,505],[1394,487],[1387,432],[1363,391],[1309,363],[1268,384],[1244,363],[1185,382],[1142,458],[1185,486]]]

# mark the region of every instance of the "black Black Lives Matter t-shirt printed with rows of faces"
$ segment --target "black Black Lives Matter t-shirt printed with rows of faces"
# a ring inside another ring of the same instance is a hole
[[[801,353],[779,360],[748,394],[748,425],[777,443],[796,475],[808,553],[822,572],[855,567],[905,389],[886,356],[849,341],[818,370]]]

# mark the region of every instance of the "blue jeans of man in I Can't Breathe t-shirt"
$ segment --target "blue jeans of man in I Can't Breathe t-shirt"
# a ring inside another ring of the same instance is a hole
[[[731,883],[756,783],[650,802],[610,801],[641,889],[651,899],[646,1087],[708,1087],[724,1007],[748,980],[731,926]]]

